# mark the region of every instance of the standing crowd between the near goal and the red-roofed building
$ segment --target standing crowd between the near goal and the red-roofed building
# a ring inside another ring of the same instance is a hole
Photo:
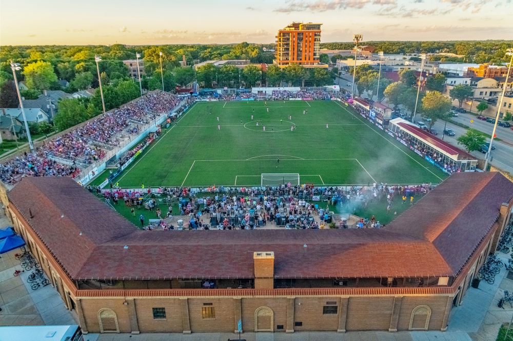
[[[155,211],[155,218],[163,229],[173,229],[163,222],[172,217],[173,202],[178,202],[178,216],[187,216],[191,229],[255,229],[273,223],[285,228],[327,228],[333,222],[337,227],[381,228],[375,217],[362,218],[354,226],[333,219],[333,209],[352,213],[354,207],[366,207],[369,202],[390,206],[395,200],[408,200],[424,195],[431,184],[399,186],[373,183],[368,186],[313,187],[289,184],[242,188],[159,187],[141,189],[98,190],[106,199],[117,204],[122,198],[127,206],[144,207]],[[89,190],[92,191],[90,187]],[[155,198],[167,207],[162,212]],[[315,200],[315,201],[313,201]],[[327,204],[331,204],[331,206]],[[155,207],[157,208],[155,209]],[[153,226],[151,229],[158,228]]]

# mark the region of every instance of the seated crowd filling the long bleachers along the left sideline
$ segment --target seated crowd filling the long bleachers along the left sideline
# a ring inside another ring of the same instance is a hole
[[[117,134],[123,131],[139,133],[139,124],[150,122],[156,114],[170,111],[179,102],[180,98],[170,93],[147,94],[45,142],[34,153],[25,153],[0,164],[0,180],[13,184],[23,176],[76,176],[80,173],[77,165],[102,159],[108,148],[105,145],[119,145]],[[52,157],[70,160],[72,166],[60,164]]]

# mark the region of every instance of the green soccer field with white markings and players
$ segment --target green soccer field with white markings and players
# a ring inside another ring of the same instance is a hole
[[[253,186],[263,173],[315,185],[446,177],[336,101],[198,102],[148,148],[116,179],[121,187]]]

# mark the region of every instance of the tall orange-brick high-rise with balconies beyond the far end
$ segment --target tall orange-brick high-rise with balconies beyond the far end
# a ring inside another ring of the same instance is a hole
[[[280,67],[299,64],[307,68],[323,67],[321,55],[321,25],[292,23],[278,31],[276,36],[276,59]]]

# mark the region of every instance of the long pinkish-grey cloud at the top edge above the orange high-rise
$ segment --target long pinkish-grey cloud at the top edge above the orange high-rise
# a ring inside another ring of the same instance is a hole
[[[274,12],[326,12],[346,8],[360,9],[369,4],[377,6],[397,5],[397,0],[317,0],[313,3],[288,0],[285,3],[284,7],[277,8]]]

